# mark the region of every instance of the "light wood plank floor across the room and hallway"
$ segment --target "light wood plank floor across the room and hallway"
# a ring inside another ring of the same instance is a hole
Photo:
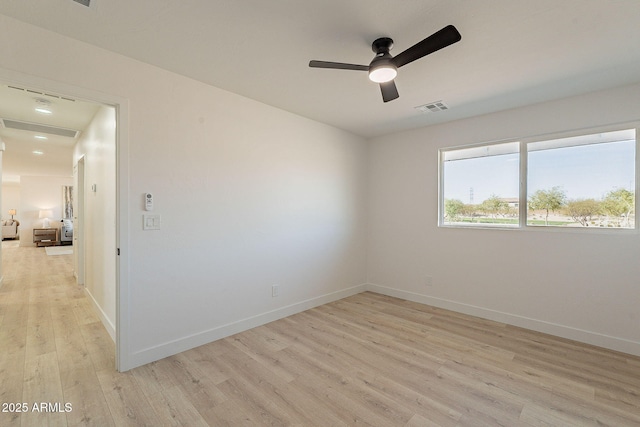
[[[117,373],[71,255],[3,270],[1,426],[640,425],[640,358],[374,293]]]

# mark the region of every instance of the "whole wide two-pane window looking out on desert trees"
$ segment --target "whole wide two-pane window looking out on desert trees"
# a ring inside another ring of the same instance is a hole
[[[636,145],[627,129],[441,150],[440,224],[635,229]]]

